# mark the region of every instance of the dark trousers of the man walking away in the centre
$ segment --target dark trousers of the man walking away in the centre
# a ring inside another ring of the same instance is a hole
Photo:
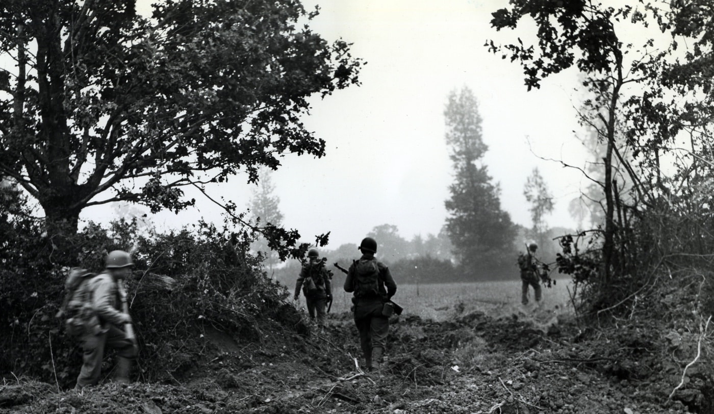
[[[357,300],[355,303],[355,325],[368,368],[372,367],[373,353],[381,357],[387,345],[389,318],[382,315],[383,307],[381,299]]]

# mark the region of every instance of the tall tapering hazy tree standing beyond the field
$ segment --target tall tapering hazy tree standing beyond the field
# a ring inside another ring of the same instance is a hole
[[[458,262],[476,277],[488,276],[508,262],[516,230],[508,212],[501,210],[501,189],[488,175],[478,101],[464,87],[448,95],[446,143],[453,164],[454,182],[446,201],[446,231]]]

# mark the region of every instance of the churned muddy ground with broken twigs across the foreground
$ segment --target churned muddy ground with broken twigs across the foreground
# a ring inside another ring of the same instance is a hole
[[[695,367],[668,398],[692,353],[677,330],[631,321],[581,329],[557,308],[498,318],[463,303],[443,311],[439,321],[393,317],[381,375],[356,366],[358,335],[345,312],[330,315],[325,332],[265,327],[261,342],[207,332],[205,360],[164,383],[76,393],[6,380],[0,413],[708,412]]]

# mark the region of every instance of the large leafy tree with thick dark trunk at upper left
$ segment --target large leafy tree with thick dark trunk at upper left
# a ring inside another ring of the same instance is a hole
[[[358,83],[361,61],[309,28],[315,14],[298,0],[165,0],[150,19],[135,0],[2,1],[15,66],[0,69],[0,175],[72,233],[92,205],[181,210],[186,186],[321,157],[300,117]]]

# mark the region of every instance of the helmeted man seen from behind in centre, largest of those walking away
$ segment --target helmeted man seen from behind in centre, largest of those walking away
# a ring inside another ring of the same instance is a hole
[[[373,238],[365,237],[358,249],[362,257],[350,266],[345,291],[354,292],[355,325],[366,368],[378,371],[386,348],[389,317],[394,311],[389,301],[396,293],[397,285],[389,268],[374,257],[377,242]]]

